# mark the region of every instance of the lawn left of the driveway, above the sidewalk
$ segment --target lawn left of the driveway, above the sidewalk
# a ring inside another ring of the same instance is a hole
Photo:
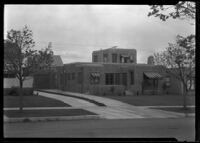
[[[19,96],[4,96],[4,107],[19,107]],[[70,107],[59,100],[43,96],[24,96],[23,107]]]

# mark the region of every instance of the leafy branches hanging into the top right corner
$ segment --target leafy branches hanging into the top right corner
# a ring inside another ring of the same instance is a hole
[[[159,17],[162,21],[173,19],[195,19],[195,2],[179,1],[176,5],[151,5],[148,16]]]

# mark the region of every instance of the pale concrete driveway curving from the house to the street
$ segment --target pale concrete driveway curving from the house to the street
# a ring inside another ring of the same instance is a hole
[[[157,109],[149,109],[145,106],[133,106],[130,104],[126,104],[114,99],[104,98],[104,97],[98,97],[94,95],[86,95],[81,93],[73,93],[73,92],[65,92],[65,91],[59,91],[59,90],[46,90],[49,92],[54,92],[55,94],[45,93],[45,92],[38,92],[39,95],[46,96],[49,98],[54,98],[60,101],[63,101],[67,104],[70,103],[69,97],[58,95],[56,93],[62,93],[62,94],[68,94],[73,95],[77,97],[84,97],[88,99],[95,100],[97,102],[103,103],[106,105],[106,107],[100,107],[100,106],[87,106],[88,103],[83,103],[81,101],[81,105],[79,102],[75,102],[70,105],[75,107],[80,107],[84,110],[88,110],[90,112],[96,113],[100,115],[102,118],[105,119],[135,119],[135,118],[179,118],[179,117],[185,117],[182,113],[175,113],[175,112],[169,112],[169,111],[163,111],[163,110],[157,110]],[[71,99],[72,97],[70,97]],[[71,99],[72,100],[72,99]],[[73,98],[73,100],[79,100]]]

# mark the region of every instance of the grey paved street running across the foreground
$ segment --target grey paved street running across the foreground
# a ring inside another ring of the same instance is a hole
[[[195,118],[4,123],[5,137],[175,137],[194,141]]]

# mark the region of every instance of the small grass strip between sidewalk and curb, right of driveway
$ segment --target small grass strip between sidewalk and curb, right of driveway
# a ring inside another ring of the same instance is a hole
[[[163,108],[152,108],[152,109],[159,109],[159,110],[165,110],[165,111],[172,111],[172,112],[178,112],[178,113],[195,113],[194,107],[188,107],[187,109],[184,109],[183,107],[163,107]]]

